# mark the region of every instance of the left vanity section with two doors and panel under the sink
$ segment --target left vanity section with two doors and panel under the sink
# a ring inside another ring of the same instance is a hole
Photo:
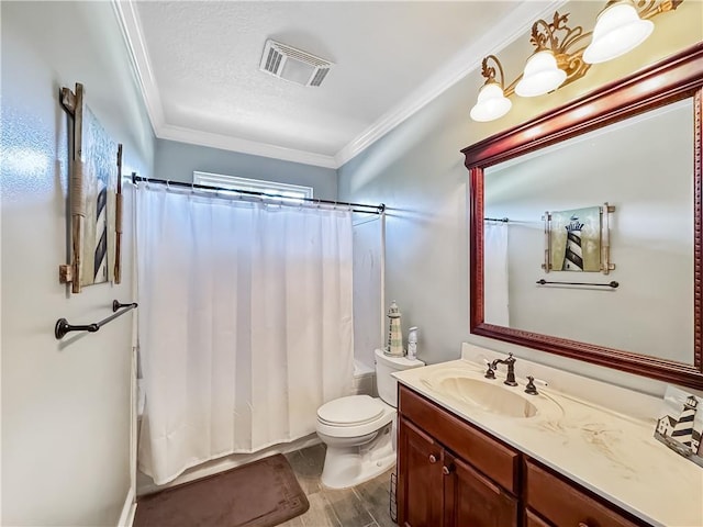
[[[404,386],[399,401],[399,525],[517,527],[518,453]]]

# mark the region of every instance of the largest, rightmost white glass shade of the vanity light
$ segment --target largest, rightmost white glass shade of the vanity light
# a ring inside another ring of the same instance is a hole
[[[598,15],[583,61],[598,64],[620,57],[645,42],[654,27],[652,22],[639,18],[629,1],[607,5]]]

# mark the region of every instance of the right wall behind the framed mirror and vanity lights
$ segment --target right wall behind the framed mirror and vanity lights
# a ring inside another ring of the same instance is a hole
[[[593,27],[603,2],[569,2],[571,25]],[[703,4],[685,1],[678,12],[657,18],[655,33],[631,54],[592,68],[589,75],[556,93],[513,97],[513,109],[492,123],[476,123],[469,110],[483,83],[478,70],[447,89],[420,112],[339,169],[339,194],[350,201],[388,206],[386,298],[395,299],[405,327],[417,325],[419,356],[431,363],[459,357],[462,340],[518,357],[577,371],[604,381],[650,392],[661,383],[615,370],[469,334],[468,314],[468,171],[459,150],[500,131],[573,100],[603,83],[703,40]],[[513,80],[533,52],[525,34],[504,49],[492,49]]]

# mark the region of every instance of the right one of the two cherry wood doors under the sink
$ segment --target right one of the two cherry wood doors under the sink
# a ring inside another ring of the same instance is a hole
[[[517,527],[517,500],[460,459],[445,456],[446,526]]]

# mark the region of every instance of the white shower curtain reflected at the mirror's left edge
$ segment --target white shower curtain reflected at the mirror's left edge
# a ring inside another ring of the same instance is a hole
[[[507,295],[507,223],[483,222],[483,319],[510,326]]]

